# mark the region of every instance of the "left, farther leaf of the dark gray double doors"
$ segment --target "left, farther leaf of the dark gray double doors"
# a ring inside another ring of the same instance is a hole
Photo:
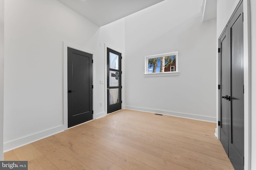
[[[230,49],[228,43],[227,31],[224,31],[223,35],[220,37],[220,76],[221,76],[221,98],[220,98],[220,141],[224,147],[226,153],[228,154],[228,120],[230,115],[230,100],[231,96],[230,90],[230,70],[231,70],[231,57]]]

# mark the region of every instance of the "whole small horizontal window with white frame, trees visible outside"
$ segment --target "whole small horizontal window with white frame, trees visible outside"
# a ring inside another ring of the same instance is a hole
[[[145,76],[178,75],[178,51],[145,57]]]

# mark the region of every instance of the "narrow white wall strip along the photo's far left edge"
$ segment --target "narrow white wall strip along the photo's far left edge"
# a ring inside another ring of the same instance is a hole
[[[0,0],[0,161],[3,160],[4,129],[4,0]]]

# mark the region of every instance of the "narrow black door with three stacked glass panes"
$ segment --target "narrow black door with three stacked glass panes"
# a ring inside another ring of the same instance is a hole
[[[107,48],[108,113],[122,109],[121,53]]]

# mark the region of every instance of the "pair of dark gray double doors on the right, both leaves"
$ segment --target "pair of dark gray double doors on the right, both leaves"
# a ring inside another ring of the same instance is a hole
[[[244,169],[243,3],[219,39],[220,141],[236,170]]]

